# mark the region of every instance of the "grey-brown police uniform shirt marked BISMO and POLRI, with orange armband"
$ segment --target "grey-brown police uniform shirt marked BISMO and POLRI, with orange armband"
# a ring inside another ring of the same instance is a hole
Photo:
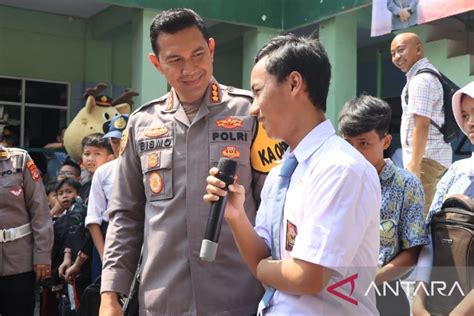
[[[221,157],[237,160],[253,223],[266,176],[255,169],[266,171],[286,149],[260,134],[257,119],[248,115],[250,104],[250,92],[211,81],[192,123],[173,91],[130,116],[109,208],[102,292],[128,294],[143,243],[140,315],[257,311],[262,287],[225,222],[216,260],[199,258],[210,167]]]

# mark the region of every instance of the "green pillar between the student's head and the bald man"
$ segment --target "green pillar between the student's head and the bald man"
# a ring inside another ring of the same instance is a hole
[[[356,14],[340,14],[321,22],[319,40],[326,48],[332,66],[326,117],[337,126],[339,111],[357,91]]]

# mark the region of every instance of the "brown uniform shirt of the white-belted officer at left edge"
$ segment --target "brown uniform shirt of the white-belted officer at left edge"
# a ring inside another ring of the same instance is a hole
[[[0,276],[51,264],[53,225],[38,168],[22,149],[0,144],[0,233],[31,223],[32,233],[0,242]]]

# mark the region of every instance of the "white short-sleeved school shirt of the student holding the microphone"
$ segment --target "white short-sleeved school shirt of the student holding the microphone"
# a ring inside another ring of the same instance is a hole
[[[381,188],[375,168],[336,136],[329,120],[307,134],[293,153],[298,166],[291,177],[280,227],[281,257],[319,264],[333,273],[326,288],[316,295],[277,290],[265,314],[378,315],[370,286],[380,247]],[[274,167],[266,179],[255,225],[270,249],[272,204],[280,168]],[[355,299],[357,305],[328,291],[331,285],[355,274],[353,293],[350,282],[335,290]]]

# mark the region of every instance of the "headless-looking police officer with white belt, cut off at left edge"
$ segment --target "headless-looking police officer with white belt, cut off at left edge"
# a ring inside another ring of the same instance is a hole
[[[35,277],[51,274],[53,226],[38,168],[0,144],[0,314],[33,315]]]

